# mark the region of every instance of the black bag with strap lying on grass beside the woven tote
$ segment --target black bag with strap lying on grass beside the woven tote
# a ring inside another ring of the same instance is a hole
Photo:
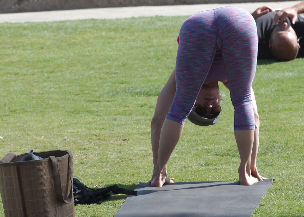
[[[124,188],[119,188],[116,184],[99,189],[88,188],[82,184],[77,178],[73,178],[73,193],[74,193],[74,204],[101,204],[103,201],[111,198],[110,192],[114,194],[125,194],[137,196],[137,191],[130,191]]]

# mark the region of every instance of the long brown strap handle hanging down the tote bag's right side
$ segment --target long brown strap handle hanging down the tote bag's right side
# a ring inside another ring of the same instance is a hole
[[[62,183],[61,183],[58,162],[57,162],[55,156],[49,157],[51,164],[52,164],[51,167],[52,167],[52,173],[53,173],[53,178],[54,178],[54,187],[55,187],[56,198],[61,203],[69,203],[69,202],[71,202],[71,199],[73,197],[73,174],[74,174],[73,155],[72,155],[72,152],[69,150],[67,150],[66,153],[69,154],[69,168],[70,168],[70,180],[71,180],[70,194],[68,195],[68,197],[66,199],[64,199],[64,197],[63,197]]]

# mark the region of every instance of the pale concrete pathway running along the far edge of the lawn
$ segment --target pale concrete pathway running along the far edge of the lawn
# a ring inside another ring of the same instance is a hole
[[[50,22],[61,20],[80,19],[116,19],[150,16],[181,16],[193,15],[197,12],[221,6],[237,6],[252,13],[258,7],[268,5],[274,9],[286,8],[302,1],[288,2],[256,2],[238,4],[202,4],[202,5],[170,5],[170,6],[140,6],[123,8],[94,8],[65,11],[25,12],[0,14],[0,23],[3,22]]]

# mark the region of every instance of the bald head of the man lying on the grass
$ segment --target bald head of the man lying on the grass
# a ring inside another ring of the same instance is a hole
[[[295,59],[299,52],[298,38],[293,32],[280,31],[271,37],[271,53],[278,61]]]

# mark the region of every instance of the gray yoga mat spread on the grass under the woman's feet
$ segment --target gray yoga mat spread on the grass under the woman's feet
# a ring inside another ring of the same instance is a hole
[[[274,178],[242,186],[238,181],[137,185],[114,217],[250,217]]]

